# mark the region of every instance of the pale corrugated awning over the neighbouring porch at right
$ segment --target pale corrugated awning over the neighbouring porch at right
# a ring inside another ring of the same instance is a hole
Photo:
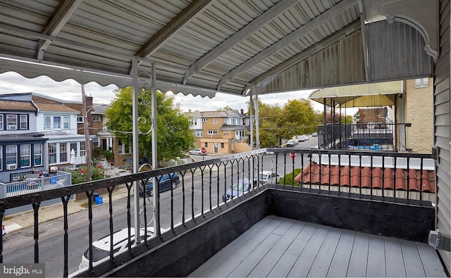
[[[342,107],[371,107],[395,105],[395,97],[402,94],[402,81],[374,84],[358,84],[316,90],[308,99],[327,106],[341,104]]]

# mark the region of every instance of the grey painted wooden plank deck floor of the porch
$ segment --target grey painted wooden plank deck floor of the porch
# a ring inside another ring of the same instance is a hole
[[[446,277],[428,244],[268,216],[190,277]]]

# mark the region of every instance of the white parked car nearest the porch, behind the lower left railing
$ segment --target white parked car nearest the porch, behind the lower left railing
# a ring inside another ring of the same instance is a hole
[[[135,228],[130,228],[130,232],[132,234],[131,240],[132,244],[135,243]],[[145,229],[140,229],[140,240],[144,240]],[[153,227],[147,227],[147,239],[152,238],[154,236]],[[94,241],[92,243],[92,264],[99,262],[104,258],[108,258],[110,255],[110,239],[111,236],[104,236],[98,241]],[[123,251],[128,250],[128,228],[124,228],[119,230],[118,232],[113,233],[113,252],[122,253]],[[89,248],[86,249],[85,253],[83,253],[80,265],[78,266],[79,270],[86,268],[89,266]]]

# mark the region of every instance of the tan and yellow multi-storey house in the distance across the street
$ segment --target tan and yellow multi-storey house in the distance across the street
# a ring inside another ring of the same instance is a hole
[[[188,112],[192,118],[191,129],[196,141],[194,146],[204,147],[209,153],[241,153],[250,151],[249,139],[243,111]]]

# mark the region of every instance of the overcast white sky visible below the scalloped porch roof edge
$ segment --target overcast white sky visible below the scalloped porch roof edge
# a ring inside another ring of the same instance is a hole
[[[113,92],[114,89],[116,89],[114,85],[101,87],[95,82],[90,82],[85,85],[85,94],[87,96],[93,96],[94,103],[110,103],[115,95]],[[62,100],[81,101],[81,86],[75,80],[56,82],[47,76],[27,79],[16,72],[0,74],[0,94],[25,93],[30,91]],[[280,106],[283,106],[288,100],[307,99],[311,91],[314,90],[261,95],[259,99],[263,103],[278,103]],[[216,97],[209,99],[208,97],[202,98],[201,96],[194,97],[192,95],[183,96],[183,94],[178,94],[175,95],[175,101],[180,103],[183,111],[190,109],[193,111],[213,111],[230,106],[231,108],[237,110],[243,109],[247,112],[246,101],[249,101],[249,97],[216,94]],[[314,104],[314,110],[323,110],[323,106],[320,103],[314,101],[312,103]]]

